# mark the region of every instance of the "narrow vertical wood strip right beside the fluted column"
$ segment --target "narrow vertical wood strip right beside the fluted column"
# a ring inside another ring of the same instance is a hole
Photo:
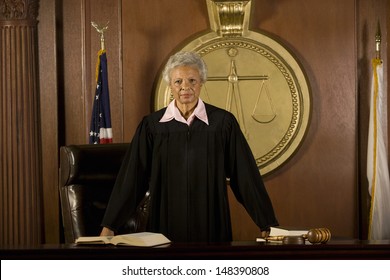
[[[58,185],[59,138],[63,135],[59,116],[62,113],[63,83],[61,58],[62,33],[59,1],[40,0],[38,23],[39,84],[42,145],[43,236],[45,243],[60,239]]]

